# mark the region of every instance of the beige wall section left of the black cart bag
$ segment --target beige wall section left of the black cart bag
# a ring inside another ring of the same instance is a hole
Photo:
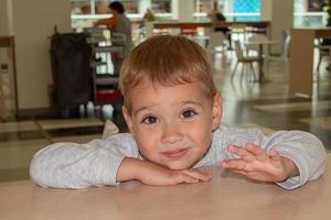
[[[49,36],[54,24],[62,32],[71,30],[70,0],[12,0],[19,110],[50,107]]]

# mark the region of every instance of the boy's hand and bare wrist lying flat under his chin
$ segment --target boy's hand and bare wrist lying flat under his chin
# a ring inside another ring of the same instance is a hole
[[[137,179],[147,185],[170,186],[209,182],[212,176],[196,169],[172,170],[137,158],[125,158],[118,169],[117,182]]]

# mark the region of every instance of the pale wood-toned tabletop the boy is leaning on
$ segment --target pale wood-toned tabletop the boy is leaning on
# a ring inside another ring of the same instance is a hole
[[[330,162],[331,155],[328,155]],[[87,189],[41,188],[31,182],[0,184],[0,219],[226,219],[310,220],[331,217],[331,165],[316,182],[285,190],[218,167],[213,180],[170,187],[136,182]]]

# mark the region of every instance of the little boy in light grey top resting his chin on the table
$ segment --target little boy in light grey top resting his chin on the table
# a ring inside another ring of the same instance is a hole
[[[222,99],[205,51],[182,36],[153,36],[120,73],[130,133],[38,152],[31,178],[43,187],[84,188],[136,179],[148,185],[209,182],[196,168],[221,165],[286,189],[317,179],[325,151],[312,134],[221,124]]]

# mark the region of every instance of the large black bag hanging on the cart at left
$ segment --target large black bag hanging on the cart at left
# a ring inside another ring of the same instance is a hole
[[[51,38],[53,103],[75,107],[92,100],[90,46],[86,33],[55,33]]]

